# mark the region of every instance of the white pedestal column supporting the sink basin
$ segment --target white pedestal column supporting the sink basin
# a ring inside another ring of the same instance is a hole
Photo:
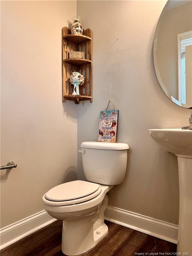
[[[179,230],[177,252],[192,256],[192,156],[177,155],[179,169]]]

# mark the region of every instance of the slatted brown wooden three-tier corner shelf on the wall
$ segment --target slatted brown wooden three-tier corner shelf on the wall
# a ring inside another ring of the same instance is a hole
[[[85,52],[85,59],[69,59],[70,51]],[[67,27],[62,28],[62,59],[63,101],[73,100],[76,104],[82,100],[92,102],[92,30],[88,28],[83,35],[73,35]],[[69,82],[72,72],[79,72],[85,77],[84,84],[79,86],[79,96],[72,95],[73,85]]]

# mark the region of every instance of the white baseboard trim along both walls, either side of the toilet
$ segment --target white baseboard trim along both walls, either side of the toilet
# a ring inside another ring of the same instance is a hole
[[[112,206],[107,207],[105,219],[177,244],[178,225]],[[0,229],[0,250],[54,221],[44,210]]]

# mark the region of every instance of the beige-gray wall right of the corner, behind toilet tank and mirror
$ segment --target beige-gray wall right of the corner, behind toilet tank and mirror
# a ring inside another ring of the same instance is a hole
[[[108,100],[119,109],[117,142],[126,142],[127,174],[109,205],[178,223],[177,158],[150,138],[150,128],[187,125],[190,110],[162,91],[153,65],[153,38],[166,1],[77,1],[82,25],[93,30],[93,103],[77,108],[77,145],[95,141]],[[110,159],[109,159],[110,161]],[[84,179],[81,154],[78,178]]]

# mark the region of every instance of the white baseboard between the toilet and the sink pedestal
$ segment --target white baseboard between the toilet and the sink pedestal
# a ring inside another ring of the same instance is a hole
[[[105,220],[177,244],[178,225],[107,206]]]

